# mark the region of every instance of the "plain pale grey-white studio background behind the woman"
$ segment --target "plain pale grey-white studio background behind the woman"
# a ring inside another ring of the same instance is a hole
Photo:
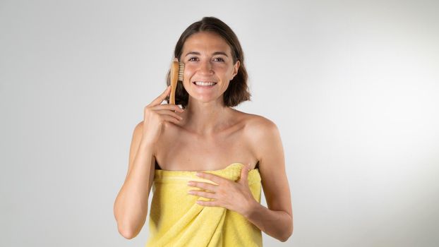
[[[294,234],[437,246],[436,1],[0,1],[0,246],[144,246],[113,203],[181,32],[224,20],[282,135]],[[265,204],[265,199],[263,201]]]

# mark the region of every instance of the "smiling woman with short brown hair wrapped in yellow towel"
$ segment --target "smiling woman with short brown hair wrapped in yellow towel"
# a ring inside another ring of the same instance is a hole
[[[148,246],[262,246],[260,231],[287,241],[293,218],[277,126],[231,108],[250,100],[236,35],[205,17],[183,32],[174,56],[185,64],[182,109],[161,104],[168,86],[134,129],[114,203],[120,234],[132,239],[145,224],[154,182]]]

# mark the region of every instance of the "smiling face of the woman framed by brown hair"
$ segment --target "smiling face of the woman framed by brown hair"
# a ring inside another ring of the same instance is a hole
[[[183,85],[192,100],[220,100],[239,68],[229,44],[214,32],[197,32],[184,43],[179,61],[185,64]],[[197,85],[198,84],[198,85]]]

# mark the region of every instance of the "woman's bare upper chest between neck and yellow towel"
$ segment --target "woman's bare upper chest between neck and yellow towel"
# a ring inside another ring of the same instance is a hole
[[[217,170],[236,162],[253,169],[258,162],[239,129],[209,138],[176,129],[164,131],[155,159],[156,168],[173,171]]]

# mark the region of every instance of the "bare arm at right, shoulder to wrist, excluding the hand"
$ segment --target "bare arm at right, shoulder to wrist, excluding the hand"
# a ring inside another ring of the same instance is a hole
[[[261,231],[284,242],[293,233],[293,213],[282,140],[275,123],[265,118],[256,122],[249,126],[249,132],[268,208],[255,201],[243,216]]]

